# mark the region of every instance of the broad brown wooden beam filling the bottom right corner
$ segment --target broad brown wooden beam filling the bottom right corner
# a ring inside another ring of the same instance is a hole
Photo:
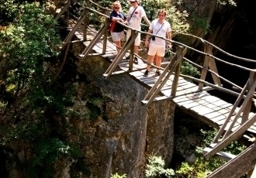
[[[254,169],[256,159],[256,145],[253,144],[236,158],[231,159],[219,169],[210,173],[206,178],[241,177],[251,169]]]

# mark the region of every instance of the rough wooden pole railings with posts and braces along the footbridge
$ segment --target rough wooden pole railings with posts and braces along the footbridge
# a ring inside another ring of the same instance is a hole
[[[81,15],[81,17],[78,19],[78,22],[75,24],[74,28],[71,30],[71,32],[68,34],[66,39],[64,39],[63,47],[67,46],[68,43],[71,43],[71,38],[74,36],[74,33],[78,30],[78,27],[80,27],[83,24],[84,28],[84,41],[86,40],[86,34],[87,34],[87,26],[88,26],[88,16],[89,12],[93,12],[93,14],[99,15],[104,17],[106,20],[103,23],[102,27],[99,29],[99,32],[97,35],[91,40],[91,42],[86,46],[85,50],[81,53],[81,59],[85,59],[86,56],[90,53],[93,46],[99,41],[100,38],[103,36],[103,48],[102,48],[102,54],[106,53],[106,43],[107,43],[107,37],[108,37],[108,27],[109,27],[109,15],[106,15],[109,9],[102,8],[103,12],[99,12],[92,8],[92,5],[97,5],[95,3],[92,3],[92,1],[86,0],[86,7],[84,7],[84,12]],[[67,7],[70,5],[70,1],[67,2]],[[99,6],[99,5],[98,5]],[[138,33],[144,34],[144,35],[150,35],[150,36],[156,36],[158,38],[164,39],[165,41],[171,42],[173,46],[175,46],[176,53],[174,53],[174,59],[171,60],[170,63],[168,63],[167,67],[156,67],[158,69],[163,70],[161,76],[157,79],[156,83],[153,87],[150,88],[150,91],[147,93],[147,96],[144,98],[144,101],[142,101],[143,104],[146,106],[154,101],[154,99],[157,97],[157,94],[161,91],[161,88],[164,86],[164,84],[167,82],[168,78],[171,76],[171,74],[175,75],[175,78],[173,80],[173,84],[171,86],[170,91],[170,98],[175,98],[177,86],[178,86],[178,77],[184,77],[189,80],[193,80],[197,82],[198,90],[207,90],[209,87],[214,88],[216,90],[225,92],[227,94],[232,94],[234,96],[237,96],[237,101],[234,103],[233,108],[231,109],[229,115],[227,115],[226,122],[222,125],[219,132],[217,133],[215,139],[213,139],[213,143],[215,143],[215,147],[208,153],[206,153],[206,158],[209,158],[216,154],[216,152],[219,152],[221,149],[229,145],[231,142],[233,142],[236,139],[239,139],[243,133],[247,130],[247,128],[250,128],[251,125],[256,122],[256,115],[252,115],[251,118],[248,118],[250,113],[250,108],[252,102],[254,102],[255,97],[255,87],[256,87],[256,76],[255,76],[255,69],[250,69],[247,67],[243,67],[240,65],[237,65],[235,63],[229,63],[225,60],[221,60],[220,58],[213,56],[213,49],[220,51],[220,53],[224,53],[229,57],[233,57],[236,60],[243,60],[244,62],[248,63],[256,63],[255,60],[246,59],[239,56],[234,56],[230,53],[227,53],[217,46],[214,46],[212,43],[207,42],[204,39],[201,39],[197,36],[192,36],[190,34],[186,33],[180,33],[173,31],[175,33],[175,36],[191,36],[193,38],[198,39],[203,45],[204,50],[196,50],[192,46],[185,45],[184,43],[179,43],[175,40],[166,39],[161,36],[153,35],[150,33],[142,32],[137,29],[132,29],[129,26],[126,26],[122,22],[118,22],[122,26],[125,26],[126,29],[130,29],[132,35],[130,36],[130,39],[126,41],[126,43],[123,45],[120,52],[117,54],[116,58],[112,61],[109,68],[106,70],[106,73],[104,76],[106,78],[112,76],[113,71],[118,67],[120,61],[123,59],[126,53],[130,53],[130,62],[129,62],[129,70],[124,71],[123,73],[132,72],[133,70],[133,56],[136,55],[140,60],[143,60],[145,63],[147,63],[147,60],[144,60],[142,57],[138,56],[137,54],[133,53],[134,51],[134,40],[136,39]],[[204,56],[204,62],[202,66],[199,66],[197,63],[193,63],[192,60],[189,60],[185,57],[185,54],[188,52],[188,50],[191,50],[193,53],[199,53],[199,55]],[[200,78],[195,78],[191,76],[187,76],[184,74],[181,74],[181,67],[182,62],[187,61],[191,63],[193,66],[201,69],[201,75]],[[221,77],[218,73],[216,62],[219,61],[220,63],[226,64],[227,66],[231,67],[237,67],[240,70],[244,70],[244,74],[246,72],[249,74],[248,79],[244,87],[240,87],[238,84],[235,84],[235,82],[232,82],[230,80],[227,80],[225,77]],[[150,64],[150,63],[147,63]],[[154,65],[150,64],[152,67],[155,67]],[[209,83],[209,81],[206,81],[206,74],[210,73],[213,78],[213,84]],[[228,84],[231,84],[232,86],[236,87],[238,90],[240,90],[240,93],[237,93],[236,91],[232,91],[228,88],[224,88],[221,82],[225,81]],[[205,87],[206,86],[206,87]],[[238,105],[242,102],[239,111],[235,112]],[[232,130],[234,128],[234,124],[237,122],[237,118],[242,115],[242,120],[240,121],[240,127],[237,127],[235,130]],[[229,126],[226,132],[224,132],[224,128],[227,127],[227,123],[230,122],[231,116],[232,118],[232,124]],[[223,136],[222,136],[223,135]]]

